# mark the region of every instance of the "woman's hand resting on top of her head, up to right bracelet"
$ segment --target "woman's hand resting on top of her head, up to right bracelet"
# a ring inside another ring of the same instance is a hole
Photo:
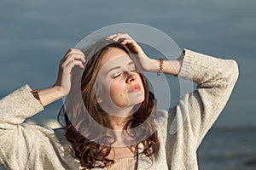
[[[157,60],[150,59],[143,51],[143,49],[134,41],[127,33],[125,34],[113,34],[109,39],[113,39],[114,41],[121,42],[124,45],[129,45],[137,54],[139,58],[140,64],[143,67],[144,71],[158,71]]]

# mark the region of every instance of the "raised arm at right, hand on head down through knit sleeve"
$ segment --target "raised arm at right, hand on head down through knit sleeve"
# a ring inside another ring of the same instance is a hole
[[[144,54],[128,34],[115,34],[109,38],[131,45],[144,71],[160,71],[160,61]],[[198,146],[230,98],[238,77],[236,61],[184,49],[177,60],[163,60],[161,71],[198,84],[195,92],[185,94],[178,102],[168,122],[169,134],[180,131],[185,136],[193,136]]]

